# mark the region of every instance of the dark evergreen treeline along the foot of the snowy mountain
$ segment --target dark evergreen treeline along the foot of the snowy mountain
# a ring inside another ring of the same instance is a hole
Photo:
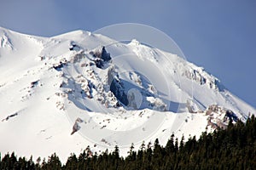
[[[42,161],[42,162],[41,162]],[[256,168],[256,120],[229,124],[225,130],[202,133],[200,139],[191,137],[187,142],[178,141],[172,134],[163,147],[158,139],[154,144],[142,144],[135,151],[133,144],[129,155],[119,156],[119,148],[106,150],[101,155],[92,154],[90,147],[79,156],[72,154],[61,164],[53,154],[48,160],[36,162],[15,153],[3,156],[0,169],[255,169]]]

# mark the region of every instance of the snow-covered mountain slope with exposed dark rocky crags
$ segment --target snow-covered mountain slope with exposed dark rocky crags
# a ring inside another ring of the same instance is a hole
[[[255,109],[176,54],[88,31],[35,37],[0,27],[0,152],[61,159],[90,145],[166,144]]]

